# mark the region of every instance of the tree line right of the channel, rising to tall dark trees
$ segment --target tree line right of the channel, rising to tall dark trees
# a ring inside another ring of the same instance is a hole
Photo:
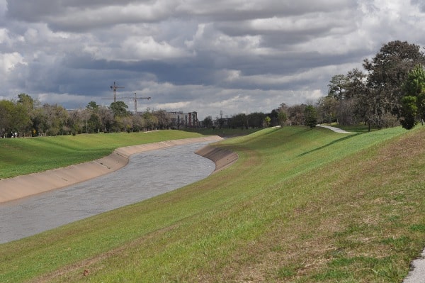
[[[259,128],[277,125],[339,123],[344,126],[365,123],[370,127],[399,126],[407,129],[424,124],[425,55],[421,47],[400,40],[382,45],[372,59],[363,60],[363,69],[335,74],[327,96],[315,103],[288,106],[283,103],[271,113],[239,113],[217,119],[217,126]],[[205,125],[212,126],[207,117]],[[269,120],[267,120],[269,119]]]

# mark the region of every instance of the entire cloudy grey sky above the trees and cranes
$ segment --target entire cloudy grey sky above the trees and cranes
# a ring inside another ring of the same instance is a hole
[[[0,99],[268,113],[424,26],[423,0],[0,0]]]

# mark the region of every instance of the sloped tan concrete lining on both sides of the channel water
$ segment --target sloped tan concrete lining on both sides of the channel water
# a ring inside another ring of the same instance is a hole
[[[84,162],[78,165],[71,165],[45,172],[22,175],[18,177],[0,179],[0,203],[20,199],[25,196],[40,194],[52,189],[60,189],[72,184],[84,182],[103,174],[108,174],[119,170],[128,164],[131,155],[157,150],[174,145],[185,145],[188,143],[198,143],[203,141],[222,140],[217,135],[202,138],[186,138],[181,140],[166,140],[159,143],[148,143],[144,145],[133,145],[114,150],[111,155],[98,160]],[[237,154],[229,150],[220,150],[206,146],[196,152],[198,155],[206,157],[215,162],[215,171],[221,170],[237,160]]]

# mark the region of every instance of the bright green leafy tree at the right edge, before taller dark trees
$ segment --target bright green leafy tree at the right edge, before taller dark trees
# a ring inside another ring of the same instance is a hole
[[[417,119],[424,125],[425,118],[425,70],[424,67],[416,65],[409,72],[406,82],[402,85],[404,97],[402,98],[402,109],[400,123],[403,128],[411,129],[416,126]]]

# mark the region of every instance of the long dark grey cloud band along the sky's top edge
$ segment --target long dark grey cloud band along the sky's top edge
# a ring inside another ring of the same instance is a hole
[[[45,22],[52,30],[83,31],[118,23],[159,22],[167,18],[244,21],[273,16],[302,16],[353,7],[353,1],[50,1],[9,0],[7,16]]]

